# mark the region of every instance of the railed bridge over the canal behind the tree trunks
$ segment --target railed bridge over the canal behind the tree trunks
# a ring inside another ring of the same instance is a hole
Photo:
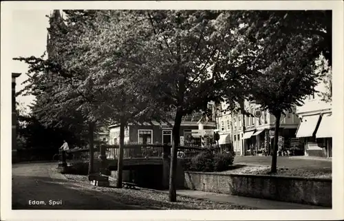
[[[184,187],[185,160],[197,156],[204,147],[177,147],[177,186]],[[222,151],[224,147],[217,149]],[[70,149],[67,151],[65,166],[73,166],[79,162],[89,163],[89,149]],[[94,169],[111,173],[117,177],[118,145],[102,145],[94,149]],[[123,147],[123,173],[125,182],[136,182],[141,187],[166,188],[169,187],[169,171],[171,162],[170,145],[125,145]],[[107,174],[110,175],[110,174]]]

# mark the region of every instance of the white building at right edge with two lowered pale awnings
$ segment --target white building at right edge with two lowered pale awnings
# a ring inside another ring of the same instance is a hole
[[[301,119],[297,138],[300,139],[305,156],[332,157],[332,101],[324,101],[322,95],[332,94],[327,86],[325,81],[319,81],[314,88],[318,93],[308,96],[304,104],[297,107]]]

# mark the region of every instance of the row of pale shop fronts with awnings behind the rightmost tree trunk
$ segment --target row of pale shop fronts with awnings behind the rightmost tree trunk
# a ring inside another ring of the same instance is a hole
[[[226,105],[222,104],[222,108],[226,109]],[[260,105],[244,101],[244,108],[246,112],[255,115]],[[286,116],[281,116],[279,141],[282,149],[290,147],[290,140],[295,138],[300,121],[295,112],[296,108]],[[226,136],[223,138],[225,141],[220,140],[224,143],[231,142],[237,156],[257,154],[261,149],[270,151],[275,134],[275,116],[269,112],[261,111],[259,117],[222,112],[217,117],[217,123],[220,136]]]

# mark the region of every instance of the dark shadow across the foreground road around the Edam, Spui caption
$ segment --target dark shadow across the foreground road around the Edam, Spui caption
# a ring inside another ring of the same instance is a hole
[[[195,209],[183,204],[140,197],[140,190],[131,190],[138,191],[133,196],[125,194],[125,191],[118,193],[121,191],[119,189],[115,191],[114,188],[93,187],[85,182],[44,176],[12,177],[12,209]],[[40,203],[32,204],[32,201]]]

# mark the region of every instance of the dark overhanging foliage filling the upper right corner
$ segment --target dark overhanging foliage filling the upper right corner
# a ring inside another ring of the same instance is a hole
[[[242,25],[243,32],[252,41],[261,39],[273,42],[266,52],[286,50],[288,38],[303,36],[312,39],[312,50],[308,58],[315,61],[323,54],[332,65],[332,10],[252,10],[237,11],[235,17]],[[271,54],[274,56],[274,54]]]

